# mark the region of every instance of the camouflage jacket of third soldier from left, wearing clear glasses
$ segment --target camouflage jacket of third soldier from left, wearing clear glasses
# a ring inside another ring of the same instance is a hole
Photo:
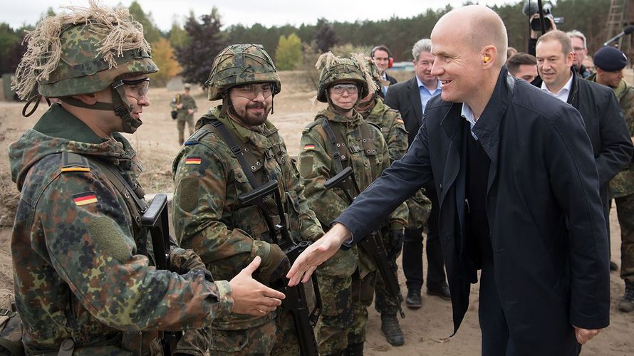
[[[311,209],[315,211],[317,219],[324,229],[348,207],[348,201],[339,189],[326,189],[323,187],[328,178],[337,174],[333,157],[331,141],[321,126],[321,120],[329,120],[333,130],[340,130],[343,137],[348,140],[348,147],[361,145],[360,122],[363,117],[356,113],[354,117],[345,117],[336,114],[330,108],[317,114],[315,122],[309,124],[301,135],[299,153],[299,173],[306,186],[306,199]],[[365,150],[350,153],[350,166],[353,168],[355,179],[359,189],[363,191],[370,183],[377,179],[383,169],[390,167],[388,146],[383,135],[374,125],[370,127],[370,135],[376,147],[376,164],[378,167],[370,167],[370,159],[365,155]],[[374,174],[373,174],[374,172]],[[399,230],[407,224],[407,206],[401,204],[390,215],[390,228]]]

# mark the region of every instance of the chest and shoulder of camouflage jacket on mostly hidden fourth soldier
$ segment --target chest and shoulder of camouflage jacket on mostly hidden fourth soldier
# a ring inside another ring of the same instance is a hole
[[[400,113],[383,103],[381,98],[375,98],[372,110],[360,112],[365,121],[377,125],[385,138],[390,152],[390,164],[405,156],[407,152],[407,130]]]

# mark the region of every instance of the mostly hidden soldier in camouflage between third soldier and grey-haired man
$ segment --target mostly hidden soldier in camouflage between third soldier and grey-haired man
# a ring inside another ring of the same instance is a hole
[[[380,73],[374,62],[366,59],[365,66],[370,70],[377,88],[381,88]],[[356,105],[356,110],[366,121],[377,125],[381,129],[383,138],[385,138],[385,142],[388,145],[391,164],[395,160],[401,159],[405,155],[405,152],[407,152],[407,130],[405,129],[405,124],[400,114],[385,105],[379,93],[379,90],[369,93]],[[432,209],[432,203],[422,194],[422,191],[420,191],[417,192],[414,197],[407,199],[407,208],[409,210],[407,227],[412,224],[416,224],[415,226],[423,226]],[[394,263],[394,266],[397,266],[396,258],[402,249],[402,239],[394,239],[390,242],[397,245],[391,249],[392,253],[390,254],[392,263]],[[385,244],[388,244],[388,241],[385,241]],[[390,298],[388,290],[385,287],[385,282],[383,282],[383,278],[381,278],[380,274],[377,276],[375,293],[375,308],[381,314],[381,331],[391,345],[403,345],[405,338],[403,337],[398,319],[396,318],[399,305],[397,305],[396,300]]]

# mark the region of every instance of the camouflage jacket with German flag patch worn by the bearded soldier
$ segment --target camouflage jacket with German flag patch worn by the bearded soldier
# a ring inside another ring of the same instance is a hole
[[[227,130],[236,132],[261,162],[263,168],[260,169],[266,169],[269,179],[276,179],[284,189],[281,197],[289,214],[291,237],[296,241],[318,239],[323,231],[306,204],[297,169],[286,153],[286,145],[277,128],[267,120],[256,127],[257,130],[248,130],[234,125],[220,113],[220,107],[209,110],[198,120],[197,129],[216,117]],[[276,153],[268,155],[267,152]],[[215,278],[236,276],[259,255],[259,249],[267,248],[272,241],[261,211],[256,206],[241,207],[238,204],[237,197],[254,188],[231,147],[221,136],[209,132],[197,144],[186,142],[175,158],[172,170],[175,187],[172,219],[180,244],[196,251]],[[263,318],[229,315],[214,320],[212,328],[241,330],[266,323],[275,316],[276,313]]]

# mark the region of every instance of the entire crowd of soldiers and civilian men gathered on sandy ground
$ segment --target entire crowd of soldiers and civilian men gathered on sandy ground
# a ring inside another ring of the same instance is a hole
[[[611,199],[619,310],[634,307],[634,88],[616,48],[591,74],[582,33],[534,40],[535,56],[506,58],[502,19],[464,6],[412,46],[402,83],[386,46],[323,53],[327,107],[296,159],[269,119],[271,57],[224,48],[207,80],[222,103],[192,128],[190,86],[172,101],[175,236],[161,241],[120,135],[142,124],[159,70],[142,27],[93,1],[44,19],[16,73],[21,98],[58,102],[9,152],[13,341],[28,355],[363,355],[374,300],[403,345],[397,257],[405,305],[421,308],[427,236],[427,295],[450,300],[454,333],[479,280],[483,355],[578,355],[609,324]]]

